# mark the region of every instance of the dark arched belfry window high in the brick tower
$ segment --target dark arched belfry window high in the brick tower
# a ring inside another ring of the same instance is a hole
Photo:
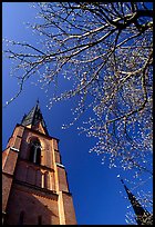
[[[41,164],[41,145],[39,140],[31,141],[29,160],[34,164]]]

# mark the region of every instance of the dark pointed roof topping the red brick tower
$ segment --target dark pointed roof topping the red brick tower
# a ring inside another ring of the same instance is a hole
[[[40,109],[40,106],[39,106],[39,100],[37,100],[37,105],[29,111],[29,114],[23,116],[21,125],[22,126],[31,125],[31,128],[32,128],[38,122],[42,124],[42,127],[43,127],[45,134],[49,135],[45,121],[43,119],[43,116],[42,116],[42,112],[41,112],[41,109]]]

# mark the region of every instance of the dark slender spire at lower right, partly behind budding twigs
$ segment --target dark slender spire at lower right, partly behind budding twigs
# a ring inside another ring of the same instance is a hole
[[[136,223],[137,225],[153,225],[153,215],[149,214],[146,209],[142,207],[140,201],[136,199],[136,197],[130,191],[130,189],[124,184],[123,179],[121,179],[122,184],[124,185],[125,191],[128,196],[128,199],[132,204],[132,207],[136,215]]]

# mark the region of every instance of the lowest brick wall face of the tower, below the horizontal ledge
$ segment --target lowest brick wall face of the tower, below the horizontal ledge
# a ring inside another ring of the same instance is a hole
[[[23,225],[38,225],[39,216],[42,216],[42,225],[60,224],[56,197],[35,194],[24,186],[13,186],[7,211],[8,225],[18,225],[21,211],[24,211]]]

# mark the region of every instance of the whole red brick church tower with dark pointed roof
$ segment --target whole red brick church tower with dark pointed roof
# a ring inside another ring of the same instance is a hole
[[[4,225],[76,225],[59,139],[49,136],[39,101],[2,152]]]

